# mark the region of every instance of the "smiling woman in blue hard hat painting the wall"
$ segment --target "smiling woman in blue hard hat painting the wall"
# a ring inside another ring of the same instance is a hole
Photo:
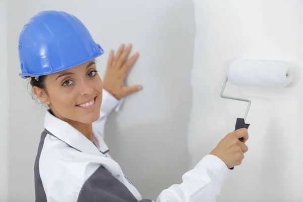
[[[104,51],[75,16],[43,11],[23,27],[20,76],[30,78],[33,93],[49,108],[34,165],[37,202],[152,201],[141,198],[103,139],[106,119],[120,99],[141,90],[123,84],[138,58],[136,53],[127,60],[130,51],[131,45],[121,45],[115,55],[110,52],[102,83],[94,60]],[[247,139],[246,129],[226,135],[156,201],[215,201],[228,168],[241,164]]]

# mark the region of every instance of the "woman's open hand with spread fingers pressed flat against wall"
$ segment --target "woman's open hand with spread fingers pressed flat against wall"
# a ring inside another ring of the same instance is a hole
[[[135,53],[130,59],[127,60],[131,48],[131,44],[127,45],[126,47],[124,44],[122,44],[115,56],[114,51],[110,51],[103,88],[117,99],[142,89],[141,85],[126,86],[124,84],[124,80],[129,69],[136,62],[139,56],[138,53]]]

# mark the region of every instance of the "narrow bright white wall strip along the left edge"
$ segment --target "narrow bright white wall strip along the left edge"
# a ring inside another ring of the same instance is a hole
[[[8,61],[7,61],[7,3],[0,0],[0,201],[8,199]]]

